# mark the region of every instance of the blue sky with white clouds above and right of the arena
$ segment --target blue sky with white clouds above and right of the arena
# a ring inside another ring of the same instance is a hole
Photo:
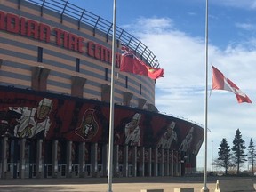
[[[68,2],[112,21],[112,0]],[[246,147],[251,138],[256,143],[256,0],[209,0],[207,113],[205,4],[206,0],[116,0],[116,25],[146,44],[164,68],[164,77],[156,80],[160,113],[197,124],[205,124],[207,114],[207,169],[215,171],[212,161],[223,138],[232,148],[239,129]],[[211,91],[211,65],[246,93],[252,104],[239,104],[232,92]],[[197,156],[197,169],[203,167],[204,144]]]

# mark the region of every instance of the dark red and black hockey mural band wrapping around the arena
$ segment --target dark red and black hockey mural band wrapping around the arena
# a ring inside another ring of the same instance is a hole
[[[197,155],[204,129],[173,116],[115,106],[118,145],[187,151]],[[47,92],[0,87],[0,136],[108,142],[109,104]]]

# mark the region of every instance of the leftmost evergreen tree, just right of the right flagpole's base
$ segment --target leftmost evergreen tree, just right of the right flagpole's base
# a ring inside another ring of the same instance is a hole
[[[226,138],[223,138],[220,143],[220,148],[218,148],[218,159],[216,160],[216,165],[223,167],[225,169],[225,174],[228,174],[228,167],[232,165],[231,157],[232,154],[230,153],[230,148],[228,146],[228,142]]]

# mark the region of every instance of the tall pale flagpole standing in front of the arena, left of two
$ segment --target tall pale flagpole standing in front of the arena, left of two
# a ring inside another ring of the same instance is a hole
[[[108,139],[108,192],[112,192],[113,178],[113,137],[114,137],[114,98],[115,98],[115,64],[116,64],[116,0],[113,0],[113,36],[112,36],[112,68],[110,90],[109,139]]]

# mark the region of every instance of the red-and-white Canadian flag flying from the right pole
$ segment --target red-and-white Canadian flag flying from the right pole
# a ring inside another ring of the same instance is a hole
[[[248,102],[252,103],[249,97],[242,92],[236,84],[226,78],[220,70],[212,66],[212,90],[226,90],[236,94],[238,103]]]

